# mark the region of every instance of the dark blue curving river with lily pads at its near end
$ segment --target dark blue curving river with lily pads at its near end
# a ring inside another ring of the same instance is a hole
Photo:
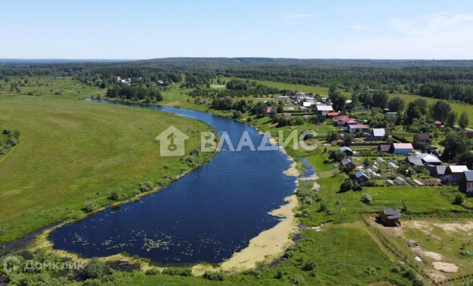
[[[155,109],[200,120],[220,135],[228,132],[235,148],[243,131],[256,146],[263,138],[254,127],[204,112],[89,101]],[[277,224],[279,219],[271,216],[270,210],[285,204],[284,198],[296,188],[294,177],[283,174],[290,165],[290,158],[279,151],[258,152],[243,147],[241,152],[230,152],[224,144],[208,163],[161,191],[67,224],[52,232],[49,239],[54,249],[85,257],[126,252],[162,264],[220,263]]]

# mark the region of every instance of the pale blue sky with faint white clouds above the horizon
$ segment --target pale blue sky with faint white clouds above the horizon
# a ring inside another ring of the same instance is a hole
[[[15,0],[3,59],[473,59],[473,1]]]

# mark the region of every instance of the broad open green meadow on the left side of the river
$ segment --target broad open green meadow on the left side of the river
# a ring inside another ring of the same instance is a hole
[[[168,113],[55,96],[0,96],[1,125],[21,132],[0,164],[0,242],[80,216],[85,201],[109,204],[112,190],[132,195],[139,183],[189,170],[160,157],[155,137],[170,125],[188,131],[189,152],[199,145],[195,131],[210,129]]]

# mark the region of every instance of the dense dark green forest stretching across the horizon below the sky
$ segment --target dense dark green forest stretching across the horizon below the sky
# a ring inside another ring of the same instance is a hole
[[[473,61],[269,58],[168,58],[133,62],[0,60],[0,80],[10,76],[38,75],[74,76],[86,84],[101,88],[115,86],[117,77],[131,78],[134,84],[148,88],[171,83],[187,88],[209,87],[217,75],[222,75],[336,86],[347,92],[384,90],[473,103]],[[239,89],[237,85],[228,88],[230,93],[245,93],[245,89]],[[257,86],[251,88],[258,89]],[[268,94],[267,91],[256,93]]]

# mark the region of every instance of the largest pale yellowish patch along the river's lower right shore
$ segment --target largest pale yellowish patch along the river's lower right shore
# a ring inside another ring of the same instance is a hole
[[[289,203],[270,212],[271,215],[281,217],[281,221],[273,228],[251,239],[247,248],[223,262],[222,270],[239,272],[254,268],[258,262],[279,257],[293,243],[290,234],[297,231],[293,209],[297,206],[298,200],[296,195],[291,195],[286,198],[286,201]]]

